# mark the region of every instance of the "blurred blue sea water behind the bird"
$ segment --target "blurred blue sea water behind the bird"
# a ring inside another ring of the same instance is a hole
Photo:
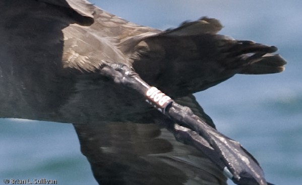
[[[283,73],[236,75],[196,97],[218,130],[256,157],[268,181],[302,184],[301,1],[92,2],[159,29],[209,16],[222,22],[222,34],[276,45],[288,61]],[[6,178],[97,184],[71,124],[0,119],[0,141],[0,184]]]

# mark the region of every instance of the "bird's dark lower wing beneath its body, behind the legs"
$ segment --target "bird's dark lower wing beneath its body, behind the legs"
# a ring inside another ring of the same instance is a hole
[[[211,122],[193,95],[176,101]],[[200,151],[177,142],[157,124],[107,122],[74,127],[100,184],[226,184],[222,172]]]

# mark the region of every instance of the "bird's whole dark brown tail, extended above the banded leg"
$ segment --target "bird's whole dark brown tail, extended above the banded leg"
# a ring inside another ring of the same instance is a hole
[[[284,70],[277,48],[217,34],[216,19],[202,18],[146,37],[135,47],[133,67],[166,94],[184,97],[235,74],[268,74]]]

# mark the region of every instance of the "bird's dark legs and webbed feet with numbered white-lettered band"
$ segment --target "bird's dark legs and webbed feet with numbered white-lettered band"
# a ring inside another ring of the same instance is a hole
[[[112,78],[115,83],[138,91],[145,97],[147,103],[168,116],[173,125],[167,127],[177,140],[206,154],[234,183],[267,184],[256,159],[238,142],[210,127],[194,115],[190,108],[175,103],[156,87],[148,85],[131,67],[103,62],[100,69],[102,75]]]

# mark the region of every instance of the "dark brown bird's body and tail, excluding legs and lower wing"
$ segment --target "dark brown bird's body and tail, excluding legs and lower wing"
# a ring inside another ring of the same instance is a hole
[[[104,61],[133,67],[212,127],[194,92],[286,63],[276,47],[217,34],[207,17],[161,31],[84,0],[2,0],[0,15],[0,117],[73,123],[100,184],[226,184],[161,127],[166,117],[101,75]]]

